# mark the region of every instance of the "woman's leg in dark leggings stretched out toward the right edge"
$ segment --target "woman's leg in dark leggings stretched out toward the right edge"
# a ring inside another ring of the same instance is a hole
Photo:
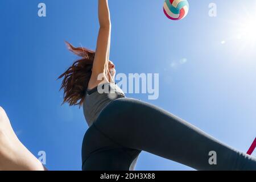
[[[255,159],[147,102],[119,98],[102,110],[94,125],[122,146],[150,152],[195,169],[256,167]],[[218,165],[209,163],[212,151],[218,154]]]

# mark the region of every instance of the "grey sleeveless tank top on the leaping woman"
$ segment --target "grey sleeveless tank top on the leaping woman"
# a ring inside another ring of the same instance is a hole
[[[125,97],[125,93],[116,83],[105,82],[93,89],[87,89],[83,109],[88,126],[92,125],[105,106],[117,98],[123,97]]]

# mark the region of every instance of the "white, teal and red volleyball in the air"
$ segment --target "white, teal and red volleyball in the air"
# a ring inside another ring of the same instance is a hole
[[[166,0],[164,2],[164,14],[172,20],[180,20],[188,14],[189,3],[187,0]]]

